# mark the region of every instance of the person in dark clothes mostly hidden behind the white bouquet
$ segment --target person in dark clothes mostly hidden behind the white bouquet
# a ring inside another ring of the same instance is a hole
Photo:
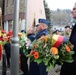
[[[26,33],[25,30],[21,30],[23,34]],[[27,64],[28,58],[25,56],[23,50],[20,48],[20,69],[23,72],[23,75],[28,75],[28,64]]]

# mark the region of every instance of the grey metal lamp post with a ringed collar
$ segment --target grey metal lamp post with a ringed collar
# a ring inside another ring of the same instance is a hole
[[[19,2],[14,0],[13,15],[13,37],[11,39],[11,75],[19,75],[19,39],[18,39],[18,21],[19,21]]]

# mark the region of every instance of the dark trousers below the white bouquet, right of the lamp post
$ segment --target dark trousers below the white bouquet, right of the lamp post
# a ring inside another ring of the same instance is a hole
[[[21,70],[23,71],[23,75],[28,75],[28,64],[27,64],[28,58],[25,55],[20,56],[20,65],[21,65]]]

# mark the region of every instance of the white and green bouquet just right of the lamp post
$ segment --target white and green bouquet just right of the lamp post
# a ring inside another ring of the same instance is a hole
[[[31,41],[27,38],[25,33],[19,33],[19,48],[20,48],[20,53],[21,54],[28,54],[28,48],[31,44]]]

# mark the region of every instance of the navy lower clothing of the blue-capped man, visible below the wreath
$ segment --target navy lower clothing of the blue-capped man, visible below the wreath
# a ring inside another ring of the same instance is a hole
[[[48,75],[46,72],[46,66],[44,63],[38,65],[36,62],[32,61],[30,63],[29,75]]]

